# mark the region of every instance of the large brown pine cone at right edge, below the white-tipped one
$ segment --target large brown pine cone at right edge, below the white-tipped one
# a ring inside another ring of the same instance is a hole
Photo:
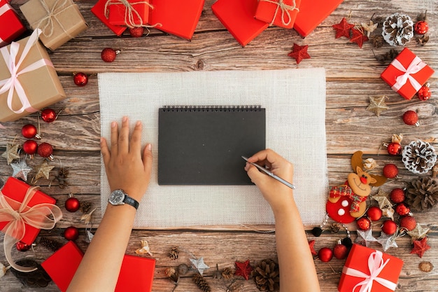
[[[438,182],[425,176],[411,182],[406,193],[407,203],[411,209],[423,211],[431,209],[438,202]]]

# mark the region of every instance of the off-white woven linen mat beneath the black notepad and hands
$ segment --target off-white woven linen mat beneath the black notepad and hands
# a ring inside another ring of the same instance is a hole
[[[153,145],[153,174],[135,228],[274,224],[256,186],[159,186],[158,109],[162,106],[242,106],[266,109],[266,145],[294,164],[295,202],[305,225],[325,216],[328,191],[325,141],[325,70],[191,71],[98,75],[101,135],[128,116],[143,123],[143,146]],[[242,168],[245,161],[242,160]],[[137,174],[132,174],[136,176]],[[101,162],[101,210],[110,189]]]

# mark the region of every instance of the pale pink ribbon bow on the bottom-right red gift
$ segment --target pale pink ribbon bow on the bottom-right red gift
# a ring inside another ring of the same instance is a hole
[[[373,282],[376,281],[379,284],[385,286],[386,288],[394,291],[397,287],[397,283],[389,281],[388,279],[384,279],[379,277],[379,274],[383,270],[383,268],[388,264],[389,258],[383,262],[383,253],[381,251],[374,251],[368,257],[368,270],[369,274],[361,272],[360,270],[355,270],[352,267],[344,266],[342,272],[348,276],[364,278],[364,280],[360,281],[353,287],[352,292],[356,291],[356,288],[360,288],[359,292],[371,292],[373,287]]]

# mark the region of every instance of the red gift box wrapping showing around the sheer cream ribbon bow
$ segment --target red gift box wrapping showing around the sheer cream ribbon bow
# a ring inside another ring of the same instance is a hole
[[[20,181],[19,179],[10,177],[1,189],[1,193],[3,193],[3,195],[5,195],[6,197],[14,200],[15,202],[8,203],[14,209],[18,209],[19,205],[16,202],[23,202],[24,196],[26,195],[27,190],[29,190],[30,187],[31,186],[29,186],[27,183],[24,183],[24,181]],[[41,192],[41,190],[37,190],[34,196],[31,197],[31,200],[29,200],[27,206],[34,207],[36,204],[55,204],[55,202],[56,200],[54,198],[45,195],[45,193]],[[0,222],[0,229],[3,229],[7,224],[8,222]],[[34,243],[36,237],[38,236],[40,229],[28,225],[27,223],[24,223],[24,226],[26,229],[24,237],[21,239],[21,241],[27,245],[31,245],[32,243]]]

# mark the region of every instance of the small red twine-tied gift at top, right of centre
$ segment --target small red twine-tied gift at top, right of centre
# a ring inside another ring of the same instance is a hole
[[[291,29],[299,12],[301,0],[260,0],[254,17],[269,25]]]

